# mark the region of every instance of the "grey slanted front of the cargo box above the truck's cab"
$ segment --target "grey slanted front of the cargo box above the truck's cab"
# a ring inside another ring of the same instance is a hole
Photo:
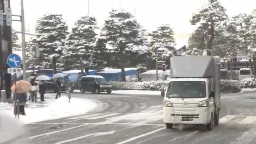
[[[206,78],[215,75],[214,58],[211,56],[171,57],[172,78]]]

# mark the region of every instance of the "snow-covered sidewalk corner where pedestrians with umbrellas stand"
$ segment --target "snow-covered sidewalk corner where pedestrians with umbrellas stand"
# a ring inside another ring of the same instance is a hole
[[[69,116],[84,114],[96,107],[96,103],[84,98],[72,97],[68,102],[68,97],[62,95],[57,100],[54,95],[46,95],[45,101],[37,103],[28,101],[26,103],[26,116],[20,115],[20,120],[27,124],[50,119],[58,119]],[[9,103],[0,103],[0,115],[13,116],[14,107]]]

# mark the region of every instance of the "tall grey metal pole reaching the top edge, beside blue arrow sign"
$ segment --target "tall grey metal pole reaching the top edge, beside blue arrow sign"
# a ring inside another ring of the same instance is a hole
[[[23,0],[21,0],[21,36],[22,36],[22,68],[23,80],[27,79],[26,76],[26,42],[25,42],[25,18],[23,9]]]

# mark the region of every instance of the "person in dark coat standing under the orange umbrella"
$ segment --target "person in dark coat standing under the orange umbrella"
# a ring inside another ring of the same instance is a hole
[[[15,94],[13,95],[12,99],[15,101],[17,100],[18,101],[18,104],[19,104],[19,111],[20,113],[23,115],[23,116],[26,116],[26,113],[25,113],[25,105],[26,105],[26,102],[27,102],[27,94],[24,92],[22,94],[16,94],[17,96],[17,99],[15,98]],[[14,114],[16,115],[18,112],[17,112],[17,106],[14,106]]]

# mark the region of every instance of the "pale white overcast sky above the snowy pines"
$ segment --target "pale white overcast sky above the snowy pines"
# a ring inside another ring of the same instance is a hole
[[[176,35],[194,31],[190,25],[193,11],[208,0],[121,0],[121,8],[135,14],[138,22],[147,30],[168,23]],[[229,16],[240,12],[251,13],[256,8],[255,0],[219,0]],[[119,9],[119,0],[89,0],[89,11],[102,26],[111,9]],[[11,0],[12,14],[20,15],[20,0]],[[87,15],[87,0],[24,0],[26,29],[34,32],[36,21],[44,14],[63,14],[71,28],[75,21]],[[12,22],[20,31],[20,22]],[[28,40],[28,39],[27,39]]]

